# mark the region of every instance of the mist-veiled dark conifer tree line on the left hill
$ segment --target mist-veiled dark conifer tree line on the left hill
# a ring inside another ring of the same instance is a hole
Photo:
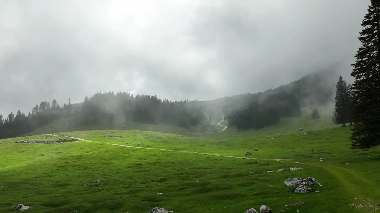
[[[16,115],[0,115],[0,138],[12,138],[36,130],[62,117],[68,117],[70,130],[106,124],[110,128],[116,122],[138,122],[142,124],[168,124],[183,128],[207,128],[210,119],[201,108],[187,107],[188,100],[169,101],[157,96],[136,95],[127,92],[98,92],[85,97],[82,103],[68,103],[61,107],[57,100],[43,101],[35,105],[28,114],[18,110]]]

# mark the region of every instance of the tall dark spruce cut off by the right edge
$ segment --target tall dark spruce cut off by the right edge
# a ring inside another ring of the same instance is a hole
[[[361,23],[356,63],[352,64],[351,149],[380,144],[380,0],[371,0]]]

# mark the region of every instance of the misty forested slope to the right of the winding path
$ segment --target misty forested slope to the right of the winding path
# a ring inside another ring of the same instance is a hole
[[[280,121],[281,117],[301,116],[301,107],[324,105],[334,94],[329,82],[333,72],[315,72],[275,89],[257,94],[225,97],[223,113],[229,127],[261,128]]]

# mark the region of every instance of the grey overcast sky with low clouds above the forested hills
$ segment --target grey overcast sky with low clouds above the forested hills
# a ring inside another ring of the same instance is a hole
[[[209,100],[331,64],[370,0],[0,0],[0,114],[98,91]]]

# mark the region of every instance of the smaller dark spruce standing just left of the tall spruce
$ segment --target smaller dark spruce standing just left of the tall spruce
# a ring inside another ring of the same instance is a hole
[[[347,83],[342,76],[339,76],[335,92],[335,124],[345,127],[348,122],[350,97]]]

